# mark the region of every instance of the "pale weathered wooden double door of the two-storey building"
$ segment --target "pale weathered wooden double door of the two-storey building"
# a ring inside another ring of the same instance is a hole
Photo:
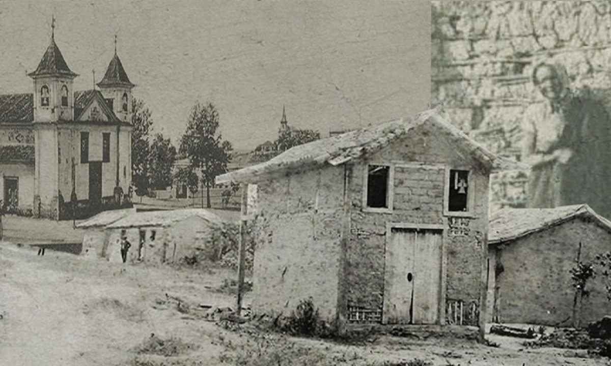
[[[439,323],[441,234],[441,230],[391,230],[386,245],[384,323]]]

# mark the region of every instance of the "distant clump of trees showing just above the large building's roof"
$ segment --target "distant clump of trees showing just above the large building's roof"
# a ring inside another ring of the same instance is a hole
[[[320,132],[318,131],[297,129],[290,126],[280,127],[278,137],[274,142],[266,141],[255,148],[252,153],[251,162],[269,160],[290,148],[318,139],[320,139]]]

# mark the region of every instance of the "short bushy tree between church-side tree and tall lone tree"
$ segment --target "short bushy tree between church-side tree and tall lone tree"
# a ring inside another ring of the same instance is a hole
[[[149,183],[155,189],[172,185],[172,167],[176,160],[176,148],[169,138],[156,134],[148,152]]]

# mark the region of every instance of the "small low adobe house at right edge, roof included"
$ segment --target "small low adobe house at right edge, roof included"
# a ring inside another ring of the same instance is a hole
[[[586,204],[501,209],[491,215],[488,243],[488,321],[566,326],[575,295],[570,270],[578,255],[595,262],[611,250],[611,222]],[[586,289],[582,325],[611,314],[604,277],[590,279]]]

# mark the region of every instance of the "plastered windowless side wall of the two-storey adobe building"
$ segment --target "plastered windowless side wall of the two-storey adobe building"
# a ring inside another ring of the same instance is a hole
[[[255,312],[290,314],[312,297],[334,320],[341,264],[344,167],[259,182],[254,221]]]

